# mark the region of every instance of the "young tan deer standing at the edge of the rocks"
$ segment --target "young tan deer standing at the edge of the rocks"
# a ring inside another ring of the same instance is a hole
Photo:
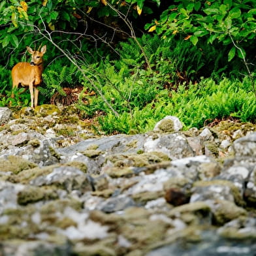
[[[33,51],[28,46],[27,51],[32,56],[30,63],[20,62],[12,68],[12,89],[18,88],[19,85],[28,86],[31,96],[31,108],[34,108],[37,106],[39,97],[37,86],[42,82],[42,56],[46,52],[46,45],[42,46],[40,52]],[[33,89],[35,89],[35,93]],[[14,97],[13,93],[12,97]]]

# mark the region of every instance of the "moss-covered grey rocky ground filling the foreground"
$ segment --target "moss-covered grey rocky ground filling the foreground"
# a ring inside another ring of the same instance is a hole
[[[256,255],[256,126],[99,136],[0,108],[0,255]]]

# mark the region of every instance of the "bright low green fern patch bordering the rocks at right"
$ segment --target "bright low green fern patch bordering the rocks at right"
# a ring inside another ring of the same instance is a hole
[[[245,78],[245,80],[248,78]],[[106,133],[144,133],[153,129],[155,123],[167,115],[178,116],[185,129],[202,127],[215,118],[234,116],[241,121],[256,121],[255,95],[244,82],[231,82],[227,78],[216,84],[212,79],[180,86],[178,91],[163,91],[161,96],[144,108],[134,108],[129,114],[123,112],[116,118],[112,113],[100,119]]]

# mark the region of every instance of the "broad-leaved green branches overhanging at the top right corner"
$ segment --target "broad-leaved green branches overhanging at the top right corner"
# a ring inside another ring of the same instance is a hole
[[[175,1],[163,11],[159,20],[146,25],[164,39],[180,38],[193,45],[199,42],[213,44],[216,50],[227,49],[228,61],[246,57],[253,61],[255,52],[255,1]],[[217,42],[217,44],[214,44]],[[248,61],[249,62],[249,61]],[[246,70],[247,72],[247,70]]]

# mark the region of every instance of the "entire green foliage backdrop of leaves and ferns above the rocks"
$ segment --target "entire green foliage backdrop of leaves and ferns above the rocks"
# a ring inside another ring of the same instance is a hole
[[[167,114],[187,128],[255,121],[255,1],[9,0],[0,14],[1,106],[10,103],[10,70],[29,61],[25,47],[46,44],[40,104],[75,103],[108,133],[151,129]],[[211,95],[219,104],[206,109]],[[217,108],[223,99],[227,110]],[[29,104],[29,94],[12,104]]]

